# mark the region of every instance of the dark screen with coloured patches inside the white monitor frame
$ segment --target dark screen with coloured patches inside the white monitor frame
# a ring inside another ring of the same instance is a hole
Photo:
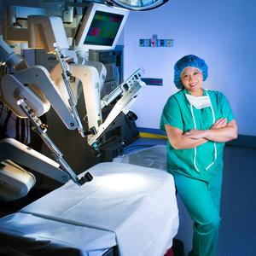
[[[96,11],[84,44],[111,46],[119,31],[124,15]]]

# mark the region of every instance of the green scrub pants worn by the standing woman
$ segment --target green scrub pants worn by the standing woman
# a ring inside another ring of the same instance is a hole
[[[189,255],[213,256],[218,245],[222,172],[210,182],[173,173],[177,193],[194,220],[193,250]]]

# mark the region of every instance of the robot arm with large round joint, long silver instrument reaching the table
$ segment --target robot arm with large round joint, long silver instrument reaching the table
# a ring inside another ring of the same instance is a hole
[[[15,67],[17,61],[10,61],[9,55],[11,49],[8,44],[5,44],[3,39],[0,41],[1,44],[1,56],[0,62],[2,65],[9,63],[9,67]],[[7,58],[4,58],[4,54],[7,53]],[[19,58],[13,57],[13,60]],[[9,60],[9,61],[6,61]],[[21,62],[21,61],[20,61]],[[57,160],[65,172],[68,173],[69,177],[73,179],[74,183],[79,185],[90,181],[92,177],[90,174],[79,179],[67,162],[63,159],[61,151],[55,146],[50,140],[46,133],[46,127],[38,116],[46,113],[49,110],[49,102],[55,107],[56,112],[60,115],[61,119],[67,125],[67,128],[73,129],[76,127],[75,119],[70,113],[66,104],[62,101],[61,95],[58,92],[54,81],[50,78],[48,71],[44,67],[27,67],[20,72],[14,74],[6,74],[1,79],[1,97],[3,102],[14,111],[14,113],[20,118],[28,118],[32,122],[34,131],[38,132],[39,136],[42,137],[44,143],[52,151],[55,160]]]

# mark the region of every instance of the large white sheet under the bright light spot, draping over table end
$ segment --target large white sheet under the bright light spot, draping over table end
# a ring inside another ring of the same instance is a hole
[[[79,187],[70,181],[20,212],[114,232],[121,256],[164,255],[172,247],[178,227],[172,175],[113,162],[98,164],[88,171],[94,176],[92,182]],[[73,231],[69,234],[73,236]]]

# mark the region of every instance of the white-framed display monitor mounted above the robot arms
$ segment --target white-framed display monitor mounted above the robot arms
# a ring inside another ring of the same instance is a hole
[[[74,38],[84,49],[114,49],[129,11],[100,3],[88,3]]]

